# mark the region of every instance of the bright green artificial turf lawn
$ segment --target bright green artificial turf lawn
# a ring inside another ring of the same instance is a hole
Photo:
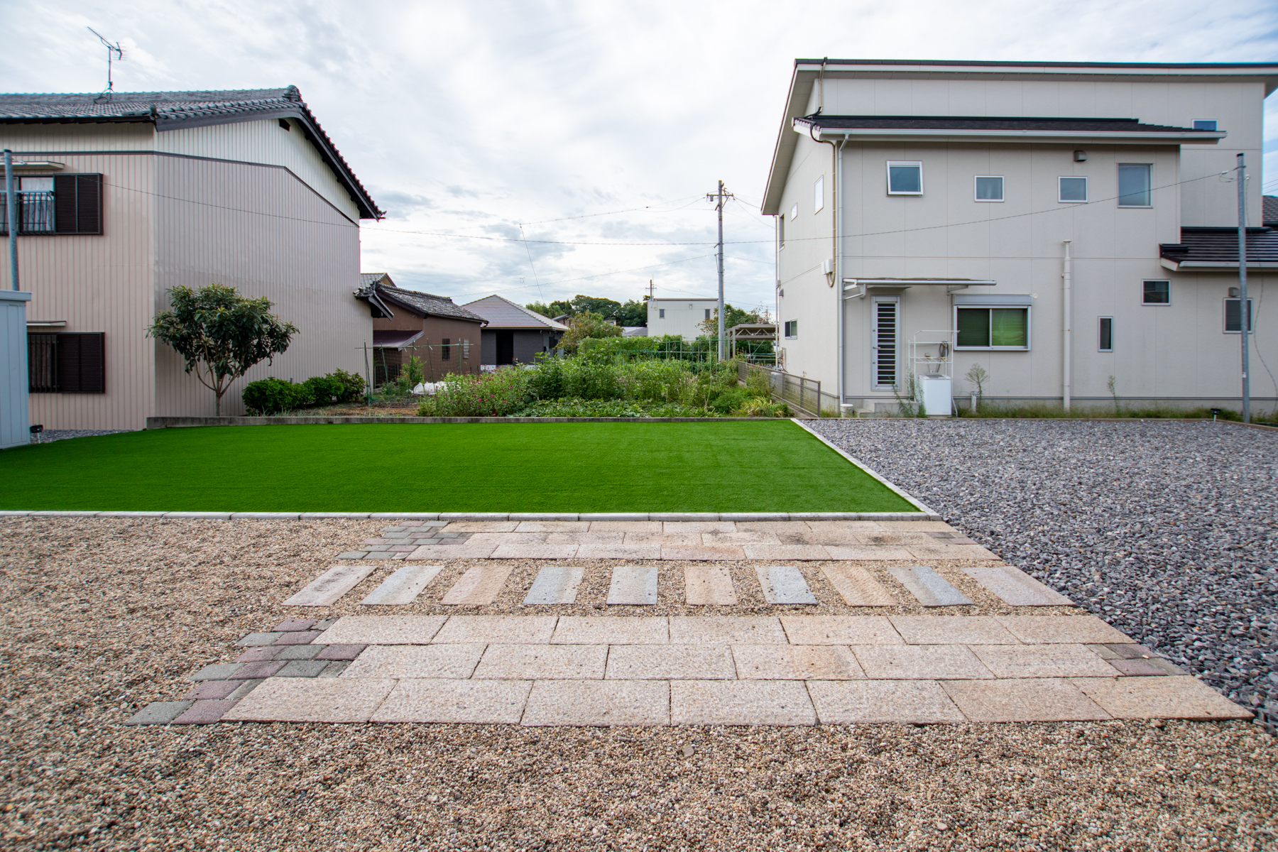
[[[914,512],[789,420],[206,427],[0,451],[6,510]]]

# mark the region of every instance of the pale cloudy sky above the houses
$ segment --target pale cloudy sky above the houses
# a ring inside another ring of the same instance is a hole
[[[713,296],[722,180],[727,300],[771,308],[759,202],[795,57],[1278,60],[1272,0],[0,0],[0,19],[6,92],[105,88],[87,27],[124,47],[116,91],[296,86],[387,211],[362,268],[458,303]],[[1264,165],[1278,194],[1278,93]]]

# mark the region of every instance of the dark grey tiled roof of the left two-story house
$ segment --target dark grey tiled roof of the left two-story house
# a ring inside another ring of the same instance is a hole
[[[235,124],[262,119],[295,119],[359,207],[360,218],[381,218],[368,190],[343,160],[302,100],[296,86],[215,92],[111,92],[0,95],[0,124],[147,123],[157,132]]]

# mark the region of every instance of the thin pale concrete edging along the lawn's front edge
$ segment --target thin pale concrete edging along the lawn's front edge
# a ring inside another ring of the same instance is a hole
[[[891,483],[888,483],[891,485]],[[896,491],[896,489],[893,489]],[[898,492],[900,493],[900,492]],[[911,503],[918,501],[902,494]],[[921,512],[92,512],[0,510],[0,517],[158,517],[208,521],[938,521]]]

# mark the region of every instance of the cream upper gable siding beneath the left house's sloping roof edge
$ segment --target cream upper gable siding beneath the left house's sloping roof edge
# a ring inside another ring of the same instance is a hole
[[[277,119],[164,130],[156,134],[156,149],[192,157],[284,166],[346,216],[359,218],[355,202],[316,147],[307,142],[302,125],[291,119],[289,121],[291,130],[281,128]]]

